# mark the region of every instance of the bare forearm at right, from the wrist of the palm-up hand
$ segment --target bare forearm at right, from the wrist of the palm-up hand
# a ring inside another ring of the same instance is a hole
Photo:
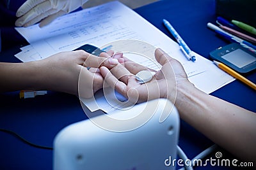
[[[209,96],[193,85],[177,89],[175,106],[183,120],[237,157],[256,158],[255,113]]]

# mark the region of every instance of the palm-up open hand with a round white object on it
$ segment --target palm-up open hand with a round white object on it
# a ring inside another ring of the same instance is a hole
[[[140,84],[134,74],[147,67],[125,59],[124,64],[109,69],[100,67],[100,73],[111,87],[115,88],[120,94],[127,97],[133,103],[143,101],[168,98],[175,103],[177,90],[186,89],[187,85],[192,85],[179,61],[168,56],[161,49],[155,52],[157,62],[161,64],[161,70],[157,71],[152,80]]]

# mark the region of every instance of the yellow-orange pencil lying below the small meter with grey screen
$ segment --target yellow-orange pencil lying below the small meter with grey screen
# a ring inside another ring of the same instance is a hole
[[[223,71],[227,72],[231,76],[234,76],[234,78],[237,78],[237,80],[242,81],[246,85],[252,87],[252,89],[256,90],[256,85],[252,81],[248,80],[247,78],[245,78],[241,74],[236,73],[236,71],[230,69],[230,67],[226,66],[225,64],[222,64],[221,62],[217,62],[215,60],[213,62],[214,62],[214,64],[216,64],[216,66],[218,66]]]

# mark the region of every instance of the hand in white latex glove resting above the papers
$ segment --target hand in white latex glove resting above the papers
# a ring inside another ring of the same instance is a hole
[[[15,22],[17,27],[28,27],[40,22],[40,27],[49,24],[57,17],[76,10],[88,0],[28,0],[19,10],[16,16],[20,17]]]

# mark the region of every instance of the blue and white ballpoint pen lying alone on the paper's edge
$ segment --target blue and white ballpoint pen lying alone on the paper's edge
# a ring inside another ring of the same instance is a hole
[[[172,35],[174,36],[174,38],[177,40],[177,42],[180,45],[180,49],[182,50],[184,55],[187,57],[187,59],[192,60],[194,62],[196,60],[195,55],[189,49],[188,45],[186,45],[184,40],[179,36],[178,32],[175,31],[175,29],[172,27],[170,22],[168,22],[167,20],[163,19],[163,23],[164,23],[165,27],[168,29],[168,31],[170,31],[172,33]]]

